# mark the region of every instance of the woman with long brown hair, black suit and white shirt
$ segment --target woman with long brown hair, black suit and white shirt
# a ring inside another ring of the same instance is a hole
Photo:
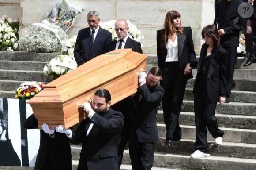
[[[173,140],[181,139],[178,119],[187,80],[193,77],[192,73],[184,75],[184,69],[188,62],[196,60],[192,30],[181,26],[180,17],[177,11],[167,12],[164,29],[157,31],[157,57],[158,67],[163,72],[160,85],[165,90],[162,107],[168,146],[173,145]]]

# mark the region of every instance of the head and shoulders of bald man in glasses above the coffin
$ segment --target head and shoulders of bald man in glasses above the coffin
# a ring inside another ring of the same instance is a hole
[[[142,54],[141,44],[135,40],[132,40],[128,36],[128,24],[124,19],[119,19],[115,23],[115,30],[117,34],[117,40],[113,40],[106,45],[105,53],[116,49],[131,48],[132,51]]]

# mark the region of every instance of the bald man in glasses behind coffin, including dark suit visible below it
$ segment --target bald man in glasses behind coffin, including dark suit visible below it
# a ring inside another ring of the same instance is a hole
[[[140,43],[132,40],[128,36],[129,27],[124,19],[117,20],[117,22],[115,23],[115,29],[117,33],[117,40],[113,40],[112,42],[107,43],[105,52],[113,51],[118,48],[131,48],[132,51],[142,54]],[[121,133],[121,142],[118,146],[119,167],[121,166],[124,149],[128,142],[128,125],[129,114],[131,112],[131,101],[131,97],[128,97],[111,106],[112,109],[122,112],[124,115],[124,127]]]

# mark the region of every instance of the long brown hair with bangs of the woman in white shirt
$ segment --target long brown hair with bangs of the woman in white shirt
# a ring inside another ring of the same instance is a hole
[[[172,24],[173,19],[178,18],[178,17],[181,17],[181,14],[178,11],[172,10],[172,11],[168,11],[167,14],[166,14],[165,23],[164,23],[165,33],[162,36],[162,40],[165,42],[166,48],[167,48],[166,39],[169,35],[173,35],[176,32],[178,32],[180,34],[184,34],[183,33],[183,26],[181,26],[181,24],[180,24],[178,29],[175,29],[175,27]]]

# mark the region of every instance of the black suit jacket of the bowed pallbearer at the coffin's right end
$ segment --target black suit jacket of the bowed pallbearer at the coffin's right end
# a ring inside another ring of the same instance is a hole
[[[136,134],[140,142],[159,140],[156,114],[163,95],[164,89],[159,85],[148,89],[147,85],[143,84],[137,88],[133,101],[129,140],[133,140]]]

